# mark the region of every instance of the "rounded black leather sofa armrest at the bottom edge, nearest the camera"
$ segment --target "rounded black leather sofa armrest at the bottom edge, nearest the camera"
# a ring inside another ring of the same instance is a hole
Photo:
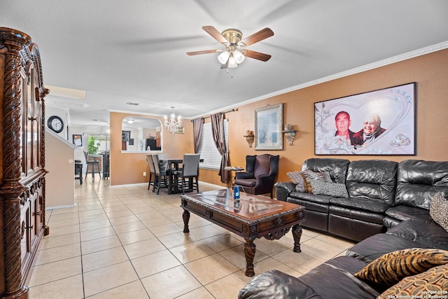
[[[269,270],[253,277],[239,291],[238,299],[322,298],[299,279],[279,270]]]

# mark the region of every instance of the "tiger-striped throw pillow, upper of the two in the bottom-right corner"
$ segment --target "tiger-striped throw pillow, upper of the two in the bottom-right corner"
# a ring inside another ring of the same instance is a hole
[[[393,286],[404,277],[445,264],[448,264],[448,251],[409,248],[380,256],[355,273],[354,276],[367,283]]]

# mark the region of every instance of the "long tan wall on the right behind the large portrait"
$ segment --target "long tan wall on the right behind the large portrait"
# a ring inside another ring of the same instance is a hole
[[[416,155],[326,157],[349,160],[384,159],[398,162],[407,159],[448,160],[448,134],[444,132],[448,127],[447,78],[448,50],[441,50],[240,106],[238,111],[228,113],[230,161],[233,166],[244,167],[246,155],[262,153],[280,155],[278,180],[288,180],[286,172],[300,169],[304,160],[315,157],[314,102],[411,82],[416,82]],[[283,124],[289,123],[298,130],[293,146],[289,146],[283,139],[283,151],[255,151],[249,148],[243,136],[246,130],[255,129],[254,109],[278,103],[283,103]],[[202,177],[201,180],[206,179]]]

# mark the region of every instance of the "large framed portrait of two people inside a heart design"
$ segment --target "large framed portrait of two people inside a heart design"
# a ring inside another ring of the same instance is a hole
[[[416,155],[415,83],[314,103],[316,155]]]

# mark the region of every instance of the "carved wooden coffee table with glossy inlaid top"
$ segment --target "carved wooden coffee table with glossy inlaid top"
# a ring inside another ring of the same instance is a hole
[[[290,202],[272,200],[269,197],[240,193],[239,202],[233,200],[230,189],[207,191],[181,195],[183,208],[183,232],[190,232],[188,221],[190,212],[207,219],[221,228],[244,237],[244,256],[246,257],[246,276],[253,277],[253,240],[280,239],[293,228],[294,248],[300,252],[300,237],[304,221],[304,207]]]

